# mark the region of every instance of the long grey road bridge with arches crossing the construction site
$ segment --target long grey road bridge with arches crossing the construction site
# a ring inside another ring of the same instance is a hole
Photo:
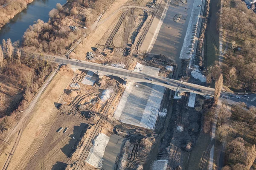
[[[58,64],[68,64],[68,65],[71,65],[71,67],[73,68],[93,71],[98,76],[111,75],[111,76],[120,77],[125,81],[148,82],[155,85],[161,85],[173,91],[192,92],[195,94],[200,94],[204,97],[214,96],[214,88],[208,88],[205,86],[196,85],[188,82],[181,82],[175,79],[169,79],[169,78],[154,76],[150,74],[144,74],[136,71],[129,71],[123,68],[115,68],[112,66],[97,64],[93,62],[85,62],[85,61],[80,61],[76,59],[67,59],[64,57],[48,56],[45,59]],[[153,81],[149,79],[153,79]],[[168,82],[169,84],[165,84],[164,82]],[[185,85],[186,88],[180,87],[181,85]],[[197,91],[197,89],[200,89],[201,92]]]

